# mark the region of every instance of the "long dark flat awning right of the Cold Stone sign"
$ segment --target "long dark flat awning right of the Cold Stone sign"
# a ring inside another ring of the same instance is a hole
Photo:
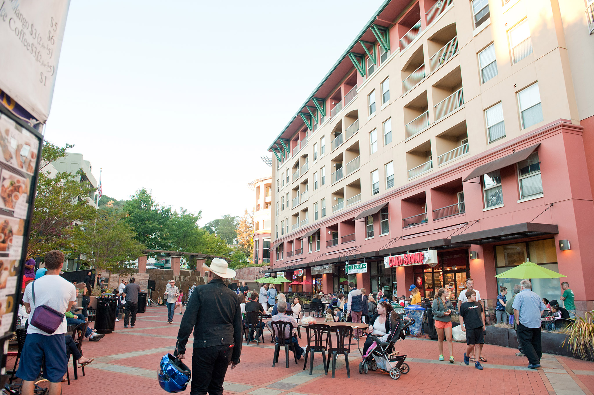
[[[451,241],[452,243],[489,244],[514,240],[516,238],[557,234],[558,232],[557,225],[524,222],[523,224],[455,235],[451,237]]]

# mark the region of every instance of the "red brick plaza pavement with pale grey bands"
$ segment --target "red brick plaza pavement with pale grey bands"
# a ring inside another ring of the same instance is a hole
[[[95,361],[85,368],[82,376],[79,368],[78,380],[71,385],[64,383],[64,395],[108,393],[110,395],[166,394],[157,383],[157,368],[160,358],[175,347],[181,315],[175,315],[174,323],[167,324],[165,307],[150,307],[146,313],[138,314],[135,328],[124,329],[124,322],[116,322],[116,330],[99,342],[84,342],[83,353]],[[302,330],[302,336],[305,331]],[[267,330],[264,337],[270,340]],[[305,336],[304,336],[305,337]],[[188,342],[191,347],[192,337]],[[307,341],[302,340],[300,345]],[[361,340],[361,345],[363,340]],[[445,346],[445,345],[444,345]],[[447,346],[446,346],[447,347]],[[302,370],[303,359],[295,365],[289,360],[285,368],[284,348],[276,367],[272,367],[274,346],[271,343],[250,343],[242,347],[241,364],[228,370],[225,394],[249,395],[350,395],[350,394],[558,394],[577,395],[594,392],[594,362],[564,356],[544,355],[542,368],[528,369],[527,359],[514,355],[510,348],[485,345],[484,370],[479,371],[462,362],[464,343],[454,342],[455,364],[437,361],[437,342],[433,340],[407,338],[397,343],[400,354],[406,354],[410,372],[392,380],[387,373],[369,371],[367,375],[358,372],[361,361],[356,348],[350,354],[350,379],[346,376],[344,359],[336,370],[336,378],[324,375],[321,355],[316,354],[314,374]],[[447,349],[447,348],[446,348]],[[191,355],[191,352],[189,352]],[[290,353],[292,358],[292,353]],[[446,356],[447,358],[447,356]],[[188,365],[191,359],[187,359]],[[12,362],[14,363],[14,362]],[[9,359],[8,365],[12,366]],[[188,389],[184,392],[189,394]]]

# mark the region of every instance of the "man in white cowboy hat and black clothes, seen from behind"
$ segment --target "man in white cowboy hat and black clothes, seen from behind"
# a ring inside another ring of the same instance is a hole
[[[192,352],[192,384],[190,395],[222,395],[228,365],[239,364],[241,355],[242,319],[239,297],[223,282],[235,277],[227,261],[214,258],[208,272],[208,283],[199,285],[188,300],[179,326],[175,355],[185,358],[188,337],[194,328]]]

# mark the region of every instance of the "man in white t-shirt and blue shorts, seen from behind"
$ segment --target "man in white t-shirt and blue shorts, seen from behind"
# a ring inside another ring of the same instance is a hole
[[[58,250],[49,251],[45,254],[44,261],[45,267],[48,269],[45,276],[29,283],[23,294],[25,308],[30,313],[27,339],[17,370],[17,377],[23,379],[21,388],[23,395],[33,395],[33,382],[39,376],[44,357],[43,377],[49,380],[49,395],[61,393],[62,378],[68,367],[65,339],[66,317],[64,316],[62,323],[53,333],[43,332],[31,324],[37,306],[46,305],[60,313],[65,313],[76,302],[75,286],[60,276],[60,271],[64,266],[64,253]],[[33,289],[35,291],[34,301]]]

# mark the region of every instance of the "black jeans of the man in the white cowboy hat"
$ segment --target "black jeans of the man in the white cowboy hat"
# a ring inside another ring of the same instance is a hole
[[[194,348],[190,395],[223,395],[223,381],[232,353],[229,345]]]

